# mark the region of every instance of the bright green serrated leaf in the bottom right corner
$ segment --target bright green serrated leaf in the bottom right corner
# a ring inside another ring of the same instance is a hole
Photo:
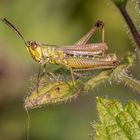
[[[122,105],[116,100],[98,98],[99,123],[95,124],[96,140],[139,140],[140,106],[129,101]]]

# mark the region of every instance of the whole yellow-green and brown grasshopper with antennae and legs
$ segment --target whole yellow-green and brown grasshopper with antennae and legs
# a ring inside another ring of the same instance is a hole
[[[104,23],[100,20],[74,45],[49,45],[36,41],[26,41],[15,26],[7,19],[1,19],[23,41],[32,58],[39,63],[37,87],[41,77],[41,70],[45,73],[47,63],[62,65],[71,72],[74,83],[74,71],[110,69],[118,65],[119,61],[115,54],[105,54],[108,49],[104,42]],[[101,43],[87,44],[90,37],[97,29],[102,30]]]

